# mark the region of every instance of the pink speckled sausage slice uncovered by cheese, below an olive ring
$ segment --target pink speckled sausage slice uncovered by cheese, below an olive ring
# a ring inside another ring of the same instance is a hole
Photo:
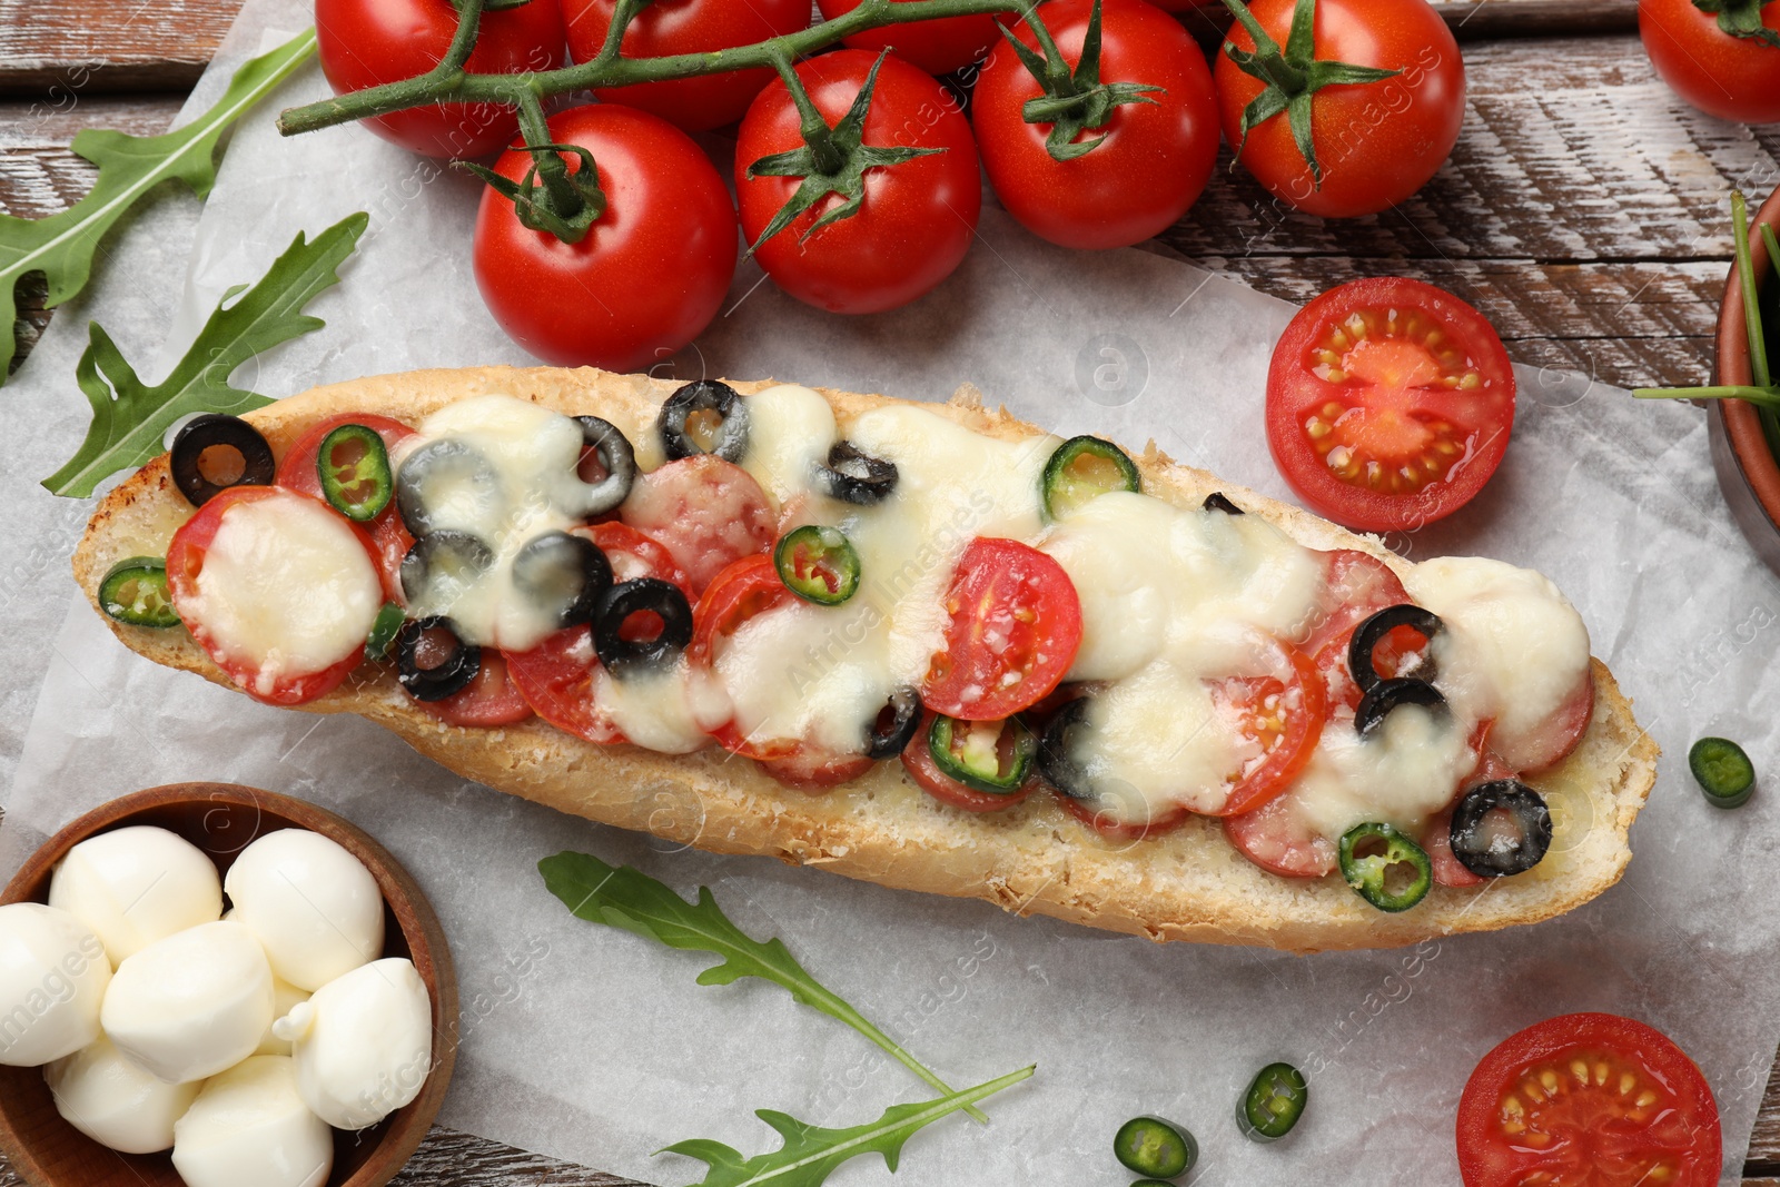
[[[692,594],[778,539],[778,516],[755,477],[712,454],[639,473],[618,516],[668,550]]]

